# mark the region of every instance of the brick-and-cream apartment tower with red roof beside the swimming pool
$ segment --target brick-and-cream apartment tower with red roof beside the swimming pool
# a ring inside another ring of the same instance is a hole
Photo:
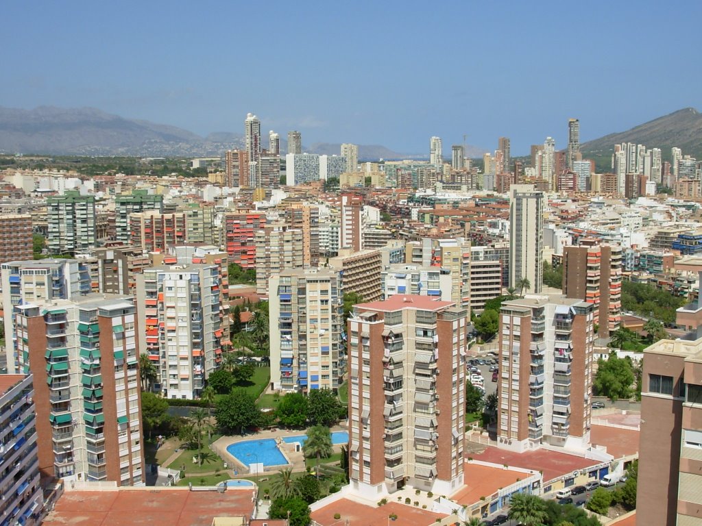
[[[468,311],[395,295],[348,321],[349,476],[369,498],[463,485]]]

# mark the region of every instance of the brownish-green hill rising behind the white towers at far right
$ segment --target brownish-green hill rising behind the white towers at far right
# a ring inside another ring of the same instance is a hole
[[[702,114],[694,108],[680,109],[628,131],[585,142],[581,144],[581,151],[591,157],[609,156],[614,151],[614,144],[620,142],[661,148],[663,159],[670,159],[670,148],[674,146],[682,148],[684,155],[702,159]]]

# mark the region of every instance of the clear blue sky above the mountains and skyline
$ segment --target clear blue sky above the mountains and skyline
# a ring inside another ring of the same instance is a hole
[[[343,6],[343,7],[342,7]],[[700,1],[6,1],[0,105],[428,152],[702,109]]]

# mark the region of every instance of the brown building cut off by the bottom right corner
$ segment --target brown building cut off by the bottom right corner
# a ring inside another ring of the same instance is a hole
[[[702,524],[702,339],[644,350],[636,523]]]

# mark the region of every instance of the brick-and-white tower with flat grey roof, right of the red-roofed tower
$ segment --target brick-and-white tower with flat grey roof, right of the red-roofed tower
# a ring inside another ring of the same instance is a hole
[[[498,447],[589,447],[593,310],[560,295],[502,304]]]

